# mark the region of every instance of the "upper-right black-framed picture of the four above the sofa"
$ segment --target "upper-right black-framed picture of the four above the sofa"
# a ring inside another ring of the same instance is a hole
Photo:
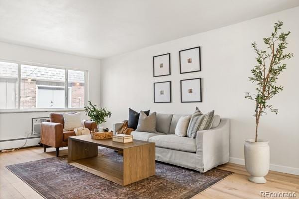
[[[200,46],[179,51],[180,74],[201,71],[200,62]]]

